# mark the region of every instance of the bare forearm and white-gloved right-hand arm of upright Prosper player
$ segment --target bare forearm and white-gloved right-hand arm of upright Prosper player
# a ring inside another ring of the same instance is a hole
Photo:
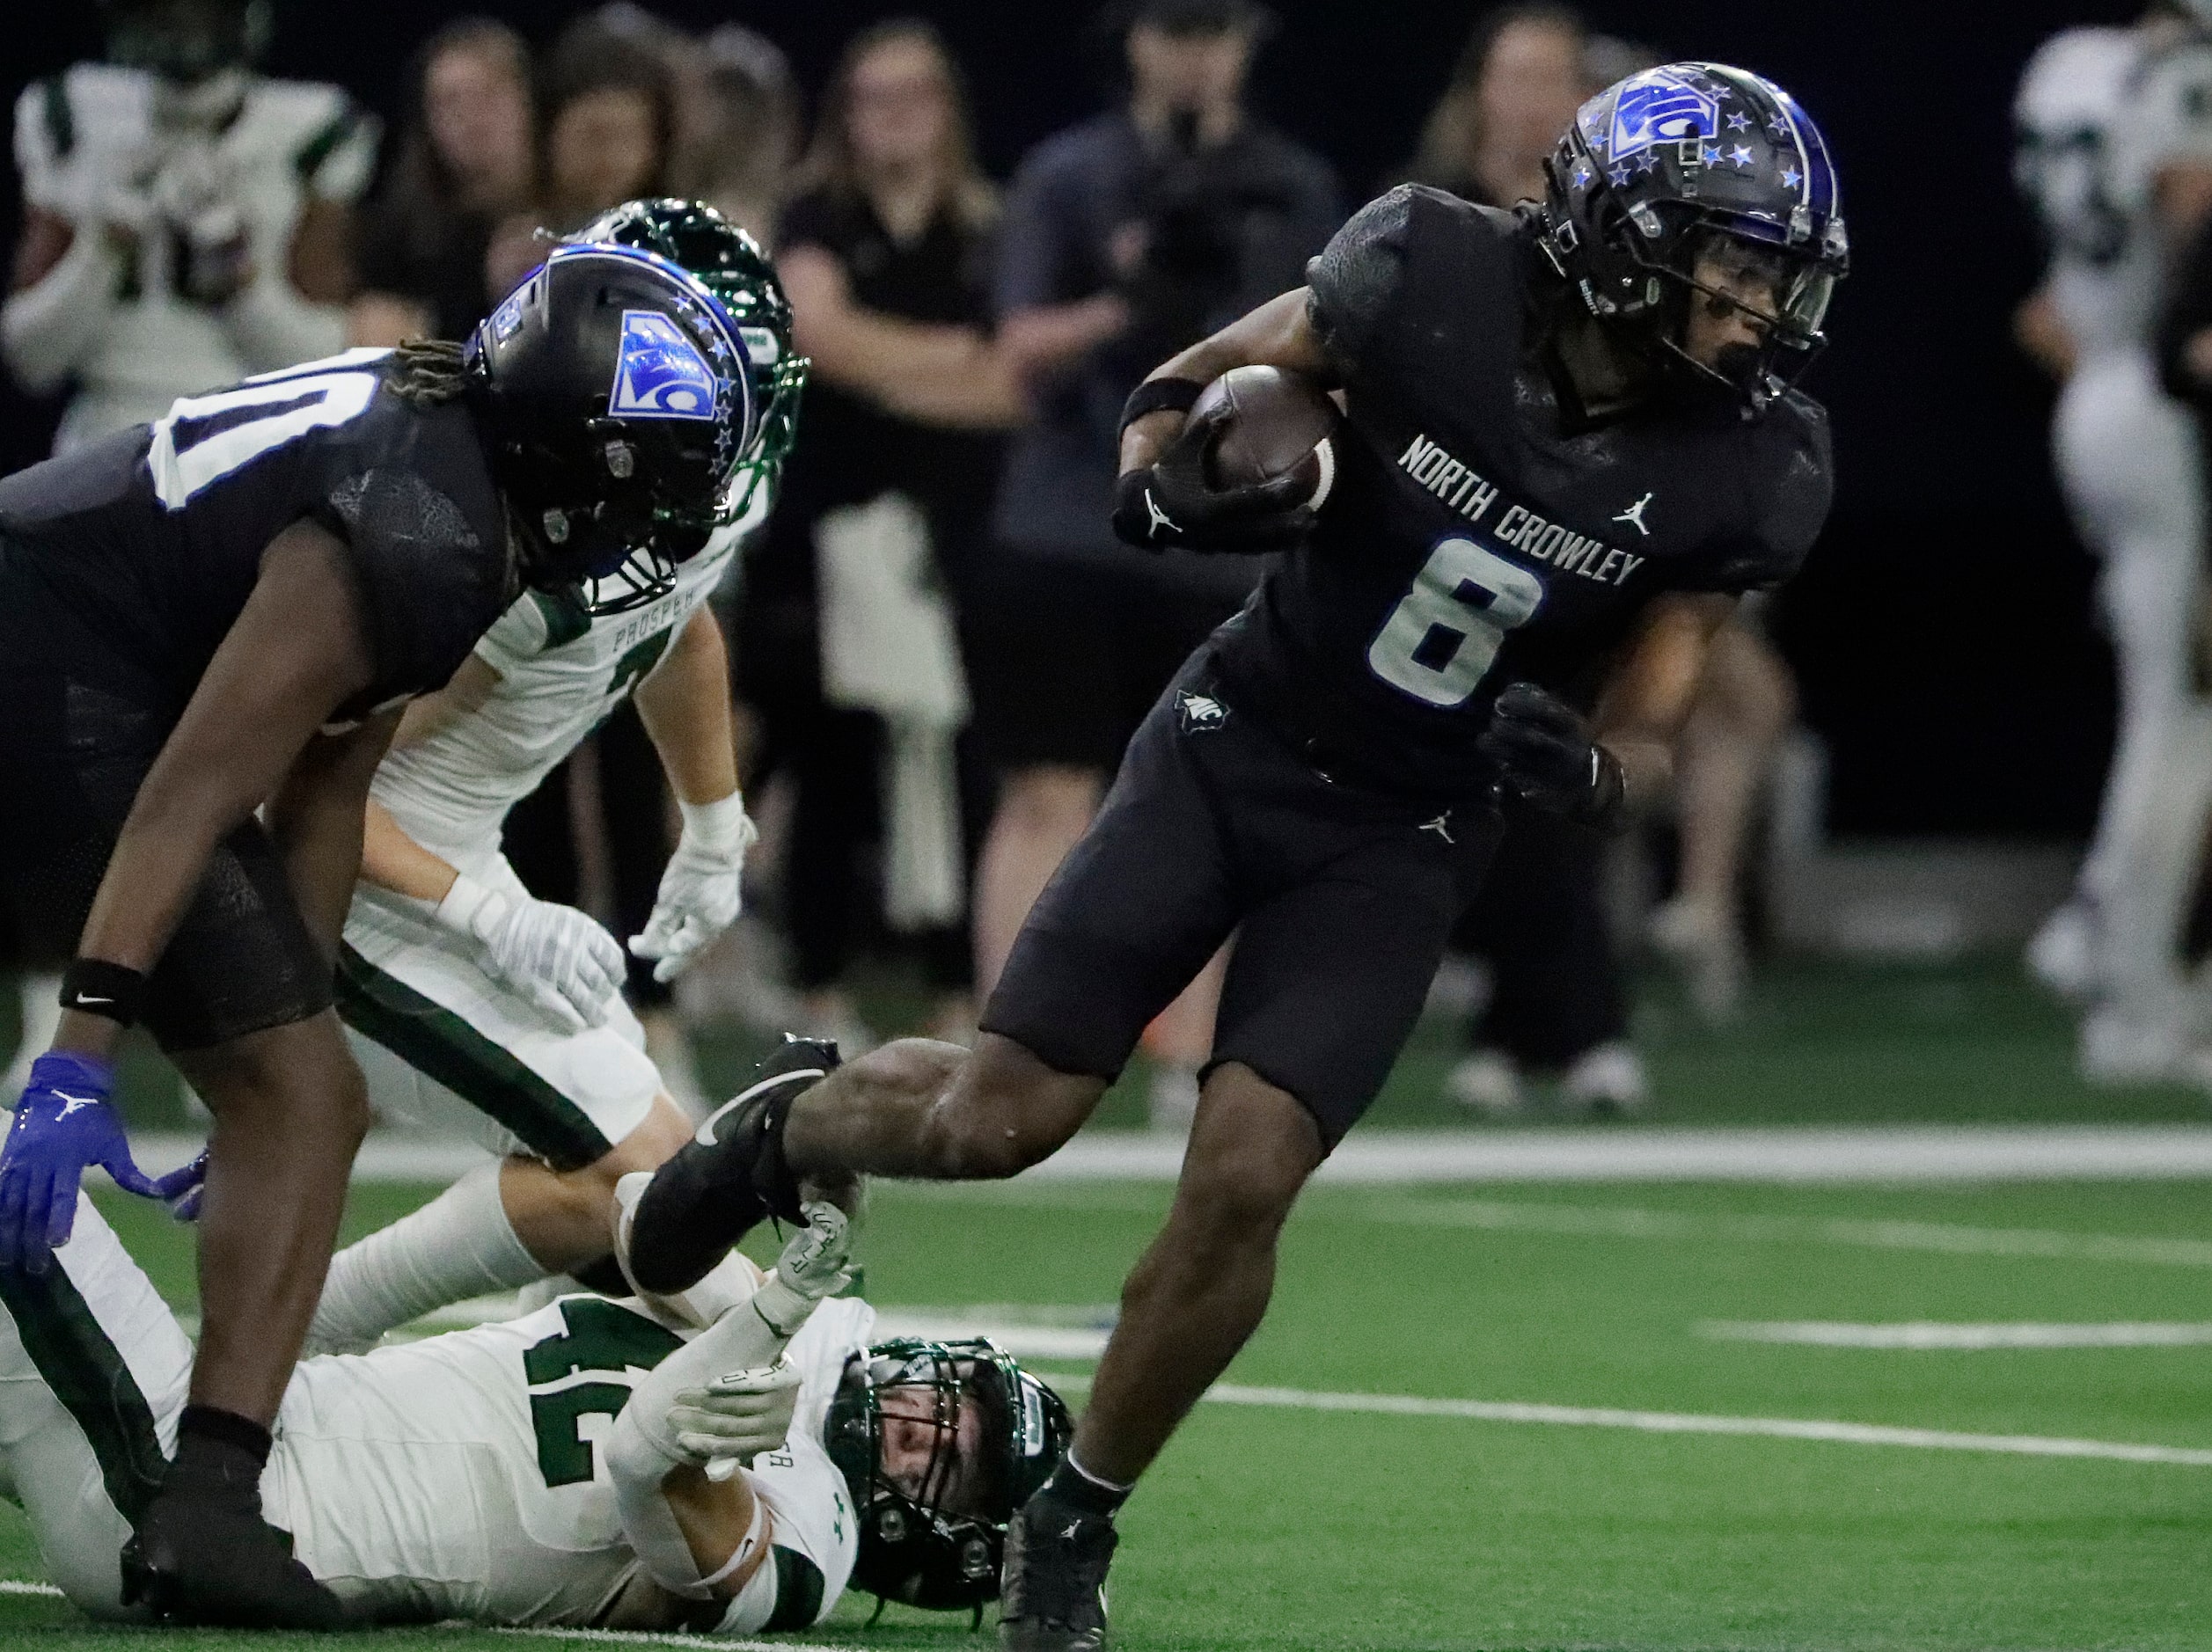
[[[653,977],[666,982],[737,922],[745,849],[759,836],[737,790],[730,655],[712,610],[695,610],[666,659],[637,686],[637,717],[684,816],[653,918],[630,938],[630,951],[655,960]]]

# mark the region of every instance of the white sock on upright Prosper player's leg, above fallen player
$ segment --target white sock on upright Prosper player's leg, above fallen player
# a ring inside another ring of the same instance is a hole
[[[400,1216],[330,1258],[323,1300],[307,1327],[310,1353],[374,1347],[385,1331],[431,1309],[546,1276],[500,1203],[500,1168],[471,1170],[422,1210]]]

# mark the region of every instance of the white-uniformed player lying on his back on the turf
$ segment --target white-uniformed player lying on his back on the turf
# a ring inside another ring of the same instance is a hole
[[[55,1261],[4,1287],[0,1462],[49,1577],[139,1619],[117,1555],[190,1342],[88,1199]],[[823,1300],[845,1278],[843,1214],[810,1205],[765,1276],[730,1256],[681,1300],[564,1296],[301,1360],[270,1519],[349,1625],[754,1634],[821,1621],[847,1583],[982,1606],[1066,1409],[989,1342],[867,1347],[874,1311]]]

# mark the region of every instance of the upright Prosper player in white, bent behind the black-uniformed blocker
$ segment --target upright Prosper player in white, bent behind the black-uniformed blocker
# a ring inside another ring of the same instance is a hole
[[[684,834],[630,951],[659,960],[655,975],[668,980],[737,918],[754,829],[708,597],[772,509],[805,360],[792,356],[768,259],[712,208],[635,201],[580,239],[657,252],[732,312],[759,409],[748,498],[681,564],[639,555],[573,599],[524,597],[400,725],[369,801],[338,1013],[380,1110],[458,1130],[502,1163],[341,1252],[312,1349],[363,1349],[445,1303],[555,1274],[619,1289],[619,1276],[591,1269],[606,1258],[606,1196],[692,1130],[622,1000],[615,938],[573,907],[533,900],[500,854],[500,825],[635,694]]]

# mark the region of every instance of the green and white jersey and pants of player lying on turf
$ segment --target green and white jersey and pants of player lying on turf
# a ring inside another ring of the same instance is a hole
[[[175,1446],[192,1347],[91,1199],[44,1276],[0,1274],[0,1462],[49,1577],[128,1617],[119,1552]],[[823,1422],[874,1309],[823,1303],[792,1338],[790,1442],[748,1471],[772,1557],[737,1610],[650,1583],[595,1442],[681,1345],[637,1303],[564,1296],[526,1318],[292,1373],[261,1477],[268,1517],[361,1623],[796,1630],[836,1603],[858,1552]]]

